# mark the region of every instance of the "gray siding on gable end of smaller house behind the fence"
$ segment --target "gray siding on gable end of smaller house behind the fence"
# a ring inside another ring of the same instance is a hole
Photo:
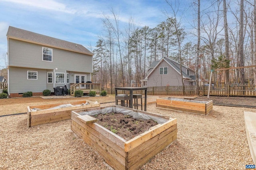
[[[159,74],[160,67],[168,67],[168,74]],[[162,61],[158,67],[148,76],[148,87],[151,86],[182,86],[180,74],[166,63]]]

